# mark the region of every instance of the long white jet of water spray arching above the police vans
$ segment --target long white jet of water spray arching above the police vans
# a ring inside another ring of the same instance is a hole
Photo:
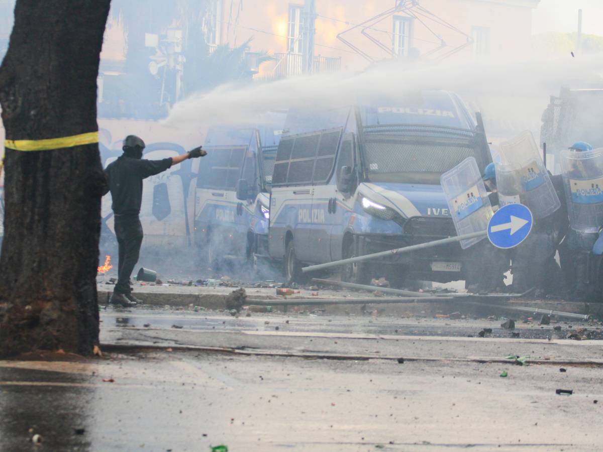
[[[339,72],[287,78],[273,83],[224,85],[196,93],[172,109],[167,124],[189,128],[200,125],[253,124],[264,111],[292,108],[334,108],[356,98],[393,93],[444,89],[458,93],[490,118],[539,127],[549,96],[562,85],[601,81],[600,55],[559,61],[471,61],[469,63],[389,62],[359,74]]]

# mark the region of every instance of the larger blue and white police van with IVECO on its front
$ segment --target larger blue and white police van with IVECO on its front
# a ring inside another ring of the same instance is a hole
[[[477,121],[477,122],[476,122]],[[272,180],[268,250],[285,277],[332,262],[455,236],[440,175],[467,157],[491,162],[481,116],[432,90],[325,111],[289,110]],[[373,277],[464,280],[458,243],[343,268]]]

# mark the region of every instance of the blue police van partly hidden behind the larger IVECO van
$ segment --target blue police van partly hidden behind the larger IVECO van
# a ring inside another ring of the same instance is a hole
[[[273,111],[257,127],[207,131],[194,228],[198,250],[212,268],[225,260],[250,259],[256,237],[268,232],[269,192],[285,117],[286,112]]]

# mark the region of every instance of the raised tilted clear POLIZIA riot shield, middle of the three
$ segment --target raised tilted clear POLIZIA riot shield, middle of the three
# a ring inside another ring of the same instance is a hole
[[[500,143],[499,152],[496,187],[499,196],[504,196],[502,202],[520,202],[535,218],[545,218],[561,207],[540,149],[529,131]]]

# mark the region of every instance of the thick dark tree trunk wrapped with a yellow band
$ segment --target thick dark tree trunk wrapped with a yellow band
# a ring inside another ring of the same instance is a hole
[[[7,140],[98,130],[96,78],[110,0],[17,0],[0,67]],[[103,167],[98,143],[5,149],[0,356],[91,354]]]

